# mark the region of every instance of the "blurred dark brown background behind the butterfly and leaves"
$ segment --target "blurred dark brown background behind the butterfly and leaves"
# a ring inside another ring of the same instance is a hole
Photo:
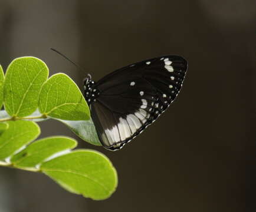
[[[255,1],[0,0],[0,63],[44,60],[83,88],[114,69],[165,54],[189,62],[169,110],[121,151],[40,123],[106,154],[119,174],[108,200],[60,188],[42,174],[0,169],[0,212],[255,211]],[[56,48],[85,72],[50,51]]]

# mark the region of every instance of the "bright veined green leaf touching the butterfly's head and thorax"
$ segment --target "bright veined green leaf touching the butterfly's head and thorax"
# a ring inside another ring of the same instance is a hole
[[[61,120],[88,120],[90,110],[77,85],[65,74],[50,77],[40,93],[39,111]]]

